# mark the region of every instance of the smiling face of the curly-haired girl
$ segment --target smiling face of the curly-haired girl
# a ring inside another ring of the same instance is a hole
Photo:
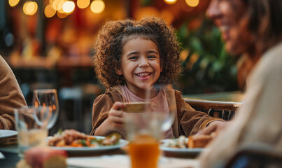
[[[123,75],[127,88],[143,97],[146,88],[160,77],[162,66],[157,45],[146,38],[132,38],[122,48],[121,67],[115,70]]]

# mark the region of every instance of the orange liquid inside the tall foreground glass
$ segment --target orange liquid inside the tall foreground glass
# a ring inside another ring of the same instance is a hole
[[[129,144],[132,168],[157,168],[160,157],[159,142],[150,135],[136,135]]]

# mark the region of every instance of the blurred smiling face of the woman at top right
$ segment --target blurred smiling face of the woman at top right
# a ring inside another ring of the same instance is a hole
[[[247,6],[241,0],[212,0],[206,14],[220,29],[225,49],[232,55],[241,55],[253,45],[248,31]]]

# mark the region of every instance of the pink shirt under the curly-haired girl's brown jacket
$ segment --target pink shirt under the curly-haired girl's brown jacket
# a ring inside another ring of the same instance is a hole
[[[146,102],[146,99],[137,97],[128,90],[126,85],[120,85],[119,87],[126,102]],[[169,104],[167,103],[167,96],[164,91],[159,92],[156,97],[150,99],[150,102],[153,104],[153,111],[164,111],[165,113],[169,113]],[[170,128],[165,132],[164,139],[171,139],[173,137],[172,128]]]

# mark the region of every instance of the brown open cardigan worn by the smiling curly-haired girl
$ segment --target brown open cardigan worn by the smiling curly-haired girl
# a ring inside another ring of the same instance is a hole
[[[174,137],[185,135],[188,137],[191,134],[196,134],[199,130],[202,130],[206,125],[211,123],[213,120],[221,120],[219,118],[212,118],[206,113],[195,111],[192,107],[187,104],[182,98],[181,92],[175,90],[177,115],[175,122],[172,125]],[[108,89],[105,94],[100,95],[95,99],[93,104],[92,113],[92,132],[94,135],[97,127],[106,120],[108,117],[108,111],[115,102],[125,102],[125,98],[122,96],[119,87],[112,87]],[[121,131],[123,137],[125,137],[124,131]]]

